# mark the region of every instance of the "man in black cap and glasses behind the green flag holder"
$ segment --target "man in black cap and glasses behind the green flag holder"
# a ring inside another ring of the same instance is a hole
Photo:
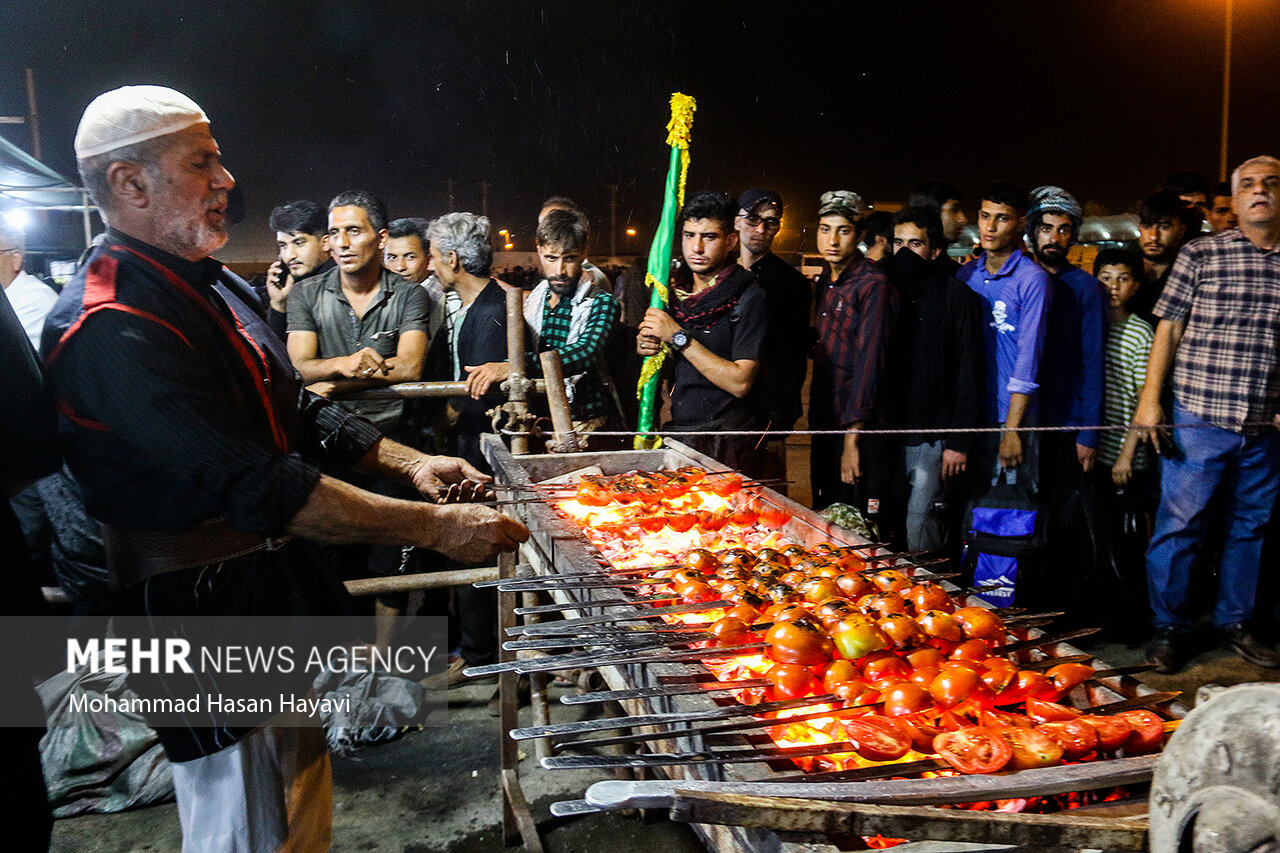
[[[764,338],[760,401],[769,429],[791,429],[803,411],[800,388],[809,365],[809,280],[773,254],[782,231],[782,196],[772,190],[746,190],[737,201],[733,228],[739,236],[739,263],[755,273],[764,288],[769,328]],[[786,437],[764,442],[763,475],[787,479]],[[782,487],[783,492],[786,487]]]

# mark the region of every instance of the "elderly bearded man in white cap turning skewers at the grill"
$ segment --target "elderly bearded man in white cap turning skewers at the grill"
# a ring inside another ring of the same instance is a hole
[[[67,461],[116,555],[122,608],[216,617],[236,637],[237,617],[342,606],[340,585],[289,537],[462,560],[527,537],[492,508],[397,501],[320,473],[355,466],[433,497],[484,479],[303,389],[244,282],[209,257],[227,242],[234,179],[195,101],[160,86],[106,92],[81,119],[76,155],[108,234],[50,315],[46,362]],[[328,847],[317,731],[210,727],[200,716],[159,734],[184,850]]]

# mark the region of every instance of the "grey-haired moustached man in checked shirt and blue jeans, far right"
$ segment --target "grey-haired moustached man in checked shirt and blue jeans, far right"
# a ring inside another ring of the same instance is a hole
[[[1156,441],[1160,392],[1172,369],[1174,432],[1164,450],[1160,511],[1147,549],[1156,638],[1147,660],[1161,672],[1187,662],[1188,578],[1221,487],[1228,516],[1213,625],[1257,666],[1280,654],[1249,631],[1263,528],[1280,493],[1280,160],[1247,160],[1231,175],[1238,228],[1179,252],[1156,302],[1160,319],[1135,426]]]

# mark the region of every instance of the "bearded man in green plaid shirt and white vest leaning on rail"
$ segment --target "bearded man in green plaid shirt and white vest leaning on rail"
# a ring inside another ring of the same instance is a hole
[[[554,209],[538,223],[535,238],[543,280],[525,300],[525,323],[534,346],[525,370],[541,375],[539,353],[559,352],[573,429],[580,434],[604,426],[613,409],[602,357],[618,321],[618,302],[584,268],[588,220],[579,210]],[[603,275],[602,275],[603,278]],[[467,389],[483,397],[489,386],[509,374],[506,361],[468,366]]]

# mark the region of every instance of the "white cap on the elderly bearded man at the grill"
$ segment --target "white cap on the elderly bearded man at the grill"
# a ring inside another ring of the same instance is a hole
[[[209,123],[196,101],[168,86],[122,86],[84,108],[76,131],[76,159]]]

